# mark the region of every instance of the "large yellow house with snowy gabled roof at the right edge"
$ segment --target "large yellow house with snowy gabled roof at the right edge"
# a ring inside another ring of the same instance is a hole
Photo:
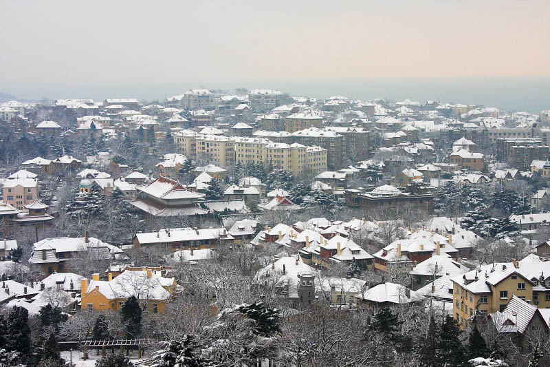
[[[512,295],[538,308],[550,308],[550,262],[529,259],[488,264],[451,278],[453,316],[461,328],[476,309],[481,315],[502,312]]]

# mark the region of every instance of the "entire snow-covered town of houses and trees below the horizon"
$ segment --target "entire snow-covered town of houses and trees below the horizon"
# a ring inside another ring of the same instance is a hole
[[[549,111],[239,88],[0,113],[3,366],[550,365]]]

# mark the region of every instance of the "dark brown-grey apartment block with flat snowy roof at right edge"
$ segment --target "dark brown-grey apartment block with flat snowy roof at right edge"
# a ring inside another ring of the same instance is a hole
[[[510,167],[528,170],[533,160],[548,160],[550,148],[540,139],[498,139],[496,159]]]

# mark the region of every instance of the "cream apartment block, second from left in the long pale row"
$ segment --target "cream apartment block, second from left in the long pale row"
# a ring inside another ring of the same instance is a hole
[[[235,162],[234,140],[227,136],[201,135],[197,136],[196,157],[199,162],[212,163],[228,167]]]

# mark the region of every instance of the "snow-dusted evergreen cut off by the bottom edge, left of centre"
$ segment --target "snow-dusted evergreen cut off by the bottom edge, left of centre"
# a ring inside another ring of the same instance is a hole
[[[201,356],[201,345],[193,335],[184,335],[179,340],[162,342],[164,348],[153,355],[152,367],[208,367],[214,366],[210,359]]]

